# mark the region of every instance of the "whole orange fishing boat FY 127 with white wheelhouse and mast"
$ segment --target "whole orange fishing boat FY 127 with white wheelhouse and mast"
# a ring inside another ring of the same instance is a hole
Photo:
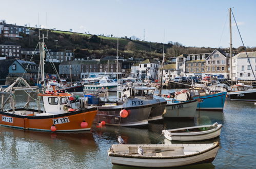
[[[47,92],[44,75],[45,43],[40,46],[40,67],[42,93],[34,99],[37,102],[37,110],[29,108],[31,93],[39,93],[38,87],[31,87],[22,77],[17,78],[12,85],[0,92],[2,98],[0,109],[0,124],[24,130],[40,130],[52,132],[72,132],[90,130],[92,121],[97,113],[96,108],[87,107],[85,104],[78,109],[71,108],[71,101],[74,99],[69,93],[57,93],[56,83],[51,83],[53,92]],[[27,66],[28,68],[28,66]],[[56,68],[55,68],[56,69]],[[57,72],[56,72],[57,73]],[[28,94],[27,103],[23,108],[15,107],[15,91],[23,90]],[[43,103],[41,102],[41,99]],[[11,109],[4,109],[7,102],[10,102]],[[43,105],[43,106],[42,106]],[[41,110],[42,107],[42,110]]]

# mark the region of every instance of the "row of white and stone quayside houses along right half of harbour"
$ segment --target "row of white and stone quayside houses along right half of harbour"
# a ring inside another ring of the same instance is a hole
[[[232,56],[232,79],[255,80],[253,71],[256,71],[256,52],[245,52]],[[229,53],[216,49],[211,53],[182,54],[172,60],[172,64],[163,67],[163,78],[173,79],[181,76],[204,76],[222,74],[230,79]],[[156,79],[161,75],[161,63],[154,59],[146,59],[131,67],[131,76],[134,78]],[[251,68],[252,67],[252,68]]]

